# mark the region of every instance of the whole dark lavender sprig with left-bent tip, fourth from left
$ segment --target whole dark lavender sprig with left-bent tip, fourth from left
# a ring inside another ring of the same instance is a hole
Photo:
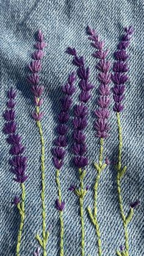
[[[73,57],[73,64],[78,67],[77,75],[81,79],[79,81],[79,87],[81,88],[81,93],[79,95],[79,104],[75,106],[74,109],[74,144],[73,144],[73,153],[74,153],[74,164],[79,170],[79,180],[80,188],[72,185],[69,190],[74,191],[74,193],[79,197],[80,205],[80,214],[81,214],[81,255],[85,255],[85,228],[84,228],[84,197],[87,194],[88,186],[84,188],[84,177],[86,175],[86,170],[84,168],[88,165],[88,158],[85,156],[87,152],[87,145],[85,143],[85,134],[84,130],[87,127],[87,115],[88,108],[86,103],[92,95],[90,90],[93,89],[93,85],[88,82],[89,78],[89,68],[85,68],[84,57],[78,57],[76,54],[76,49],[68,48],[67,53],[71,54]]]

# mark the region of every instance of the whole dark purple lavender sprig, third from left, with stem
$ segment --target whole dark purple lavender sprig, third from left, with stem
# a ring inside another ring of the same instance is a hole
[[[64,255],[64,249],[63,249],[63,235],[64,235],[64,225],[63,225],[63,210],[65,208],[65,202],[62,201],[62,192],[60,187],[60,169],[63,166],[63,159],[65,157],[65,150],[64,148],[67,147],[67,132],[68,132],[68,126],[67,122],[69,120],[69,114],[72,99],[71,96],[75,92],[74,87],[74,81],[76,80],[76,76],[74,75],[74,72],[70,74],[68,77],[68,82],[63,86],[62,90],[65,93],[65,97],[61,99],[62,103],[62,110],[59,114],[59,122],[60,125],[57,126],[57,133],[59,136],[57,137],[55,141],[56,147],[54,148],[53,154],[54,154],[54,166],[56,167],[56,183],[57,183],[57,189],[58,189],[58,198],[56,200],[56,208],[59,211],[59,218],[60,218],[60,256]]]

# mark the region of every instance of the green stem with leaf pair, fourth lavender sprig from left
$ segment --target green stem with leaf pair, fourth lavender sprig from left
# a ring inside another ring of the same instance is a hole
[[[74,189],[75,194],[79,197],[80,205],[80,216],[81,216],[81,255],[85,255],[85,228],[84,228],[84,197],[87,194],[87,190],[84,189],[84,177],[86,175],[86,170],[82,171],[79,168],[79,179],[80,179],[80,189]]]

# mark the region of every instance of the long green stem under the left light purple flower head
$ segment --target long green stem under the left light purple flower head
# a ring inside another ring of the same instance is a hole
[[[38,98],[38,101],[40,99]],[[39,107],[36,107],[36,112],[39,114],[40,110]],[[43,248],[43,256],[46,256],[46,244],[48,243],[48,238],[49,238],[49,231],[46,232],[46,210],[45,210],[45,141],[43,138],[43,130],[41,126],[40,121],[36,121],[37,126],[38,126],[38,131],[40,134],[40,141],[41,141],[41,203],[42,203],[42,218],[43,218],[43,223],[42,223],[42,228],[43,228],[43,239],[41,240],[40,236],[37,234],[35,238],[38,240],[40,243],[40,246]]]

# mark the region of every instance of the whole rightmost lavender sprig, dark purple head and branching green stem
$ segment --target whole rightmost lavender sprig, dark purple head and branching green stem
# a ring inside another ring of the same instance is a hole
[[[121,219],[123,221],[123,227],[124,227],[124,239],[125,239],[125,246],[123,251],[117,251],[117,255],[123,256],[129,255],[129,238],[128,238],[128,224],[132,220],[133,214],[134,214],[134,208],[137,206],[137,203],[132,203],[130,205],[130,210],[128,216],[124,214],[123,210],[123,201],[121,196],[121,178],[126,172],[127,167],[121,167],[121,153],[122,153],[122,128],[121,128],[121,122],[120,122],[120,112],[123,111],[123,99],[124,99],[124,90],[125,90],[125,83],[128,81],[128,76],[126,75],[126,72],[128,71],[128,64],[127,60],[129,58],[128,53],[126,52],[126,49],[129,46],[131,35],[134,32],[134,29],[132,26],[126,27],[124,29],[125,34],[121,38],[120,43],[118,44],[118,51],[115,52],[115,62],[113,64],[113,75],[112,75],[112,81],[114,83],[113,87],[113,100],[115,101],[115,105],[113,107],[113,111],[117,113],[117,124],[118,124],[118,139],[119,139],[119,145],[118,145],[118,162],[115,165],[117,169],[117,189],[118,189],[118,201],[120,206],[120,213],[121,213]]]

